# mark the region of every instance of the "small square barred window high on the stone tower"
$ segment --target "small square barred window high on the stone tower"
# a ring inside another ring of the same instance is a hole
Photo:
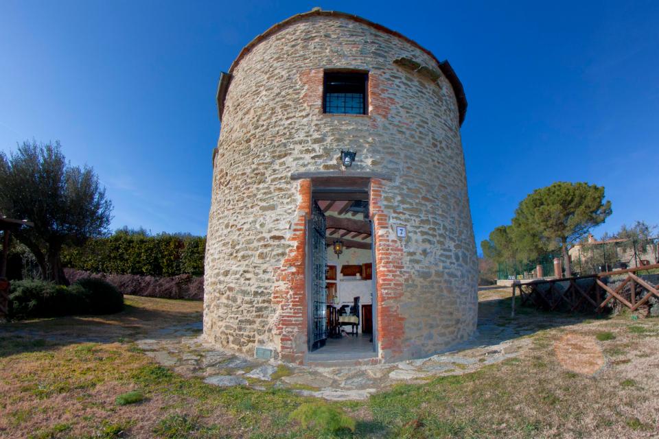
[[[368,73],[325,72],[323,112],[339,115],[368,114]]]

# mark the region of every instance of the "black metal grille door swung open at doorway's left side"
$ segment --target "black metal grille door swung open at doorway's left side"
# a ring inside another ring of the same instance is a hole
[[[327,289],[325,270],[327,268],[327,246],[325,214],[314,201],[312,207],[312,340],[311,350],[325,346],[327,340]]]

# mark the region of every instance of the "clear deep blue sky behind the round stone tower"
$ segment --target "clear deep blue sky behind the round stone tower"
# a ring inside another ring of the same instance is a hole
[[[659,222],[659,2],[8,1],[0,3],[0,148],[59,139],[93,165],[113,228],[204,235],[215,93],[242,47],[321,6],[448,58],[476,244],[557,180],[603,185],[596,234]],[[480,251],[480,250],[479,250]]]

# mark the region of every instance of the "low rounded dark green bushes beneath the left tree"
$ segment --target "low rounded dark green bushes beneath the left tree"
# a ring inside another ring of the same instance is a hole
[[[46,318],[74,314],[109,314],[124,309],[124,295],[100,279],[80,279],[69,287],[45,281],[14,281],[9,318]]]

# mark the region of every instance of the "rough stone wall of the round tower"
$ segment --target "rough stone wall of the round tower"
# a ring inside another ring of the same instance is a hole
[[[305,349],[281,331],[287,289],[296,288],[282,272],[299,280],[308,215],[303,184],[290,175],[339,170],[342,149],[357,152],[351,170],[393,176],[371,191],[382,359],[434,353],[474,331],[478,269],[456,99],[446,78],[432,82],[393,64],[400,57],[437,67],[391,34],[310,16],[235,67],[214,160],[209,340],[248,354],[255,346],[285,356],[288,346]],[[323,69],[336,68],[369,71],[369,115],[323,114]],[[408,237],[395,237],[397,225]],[[305,340],[306,323],[292,324]]]

